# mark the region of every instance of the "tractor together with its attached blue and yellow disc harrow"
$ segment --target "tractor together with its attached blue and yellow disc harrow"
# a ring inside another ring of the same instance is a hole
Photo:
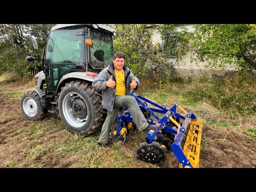
[[[38,49],[37,33],[30,33]],[[101,105],[101,93],[91,84],[102,69],[113,61],[115,30],[101,24],[59,24],[51,28],[47,45],[26,60],[41,60],[43,70],[35,75],[36,87],[21,97],[21,110],[29,120],[38,121],[45,113],[57,113],[67,130],[88,136],[100,127],[107,111]],[[142,161],[157,163],[172,150],[180,167],[199,167],[202,122],[192,110],[178,103],[167,109],[131,92],[147,122],[157,129],[147,133],[146,141],[136,149]],[[178,110],[181,113],[178,113]],[[164,114],[160,118],[157,114]],[[137,126],[126,107],[119,110],[110,138],[125,142]],[[182,149],[183,146],[183,149]]]

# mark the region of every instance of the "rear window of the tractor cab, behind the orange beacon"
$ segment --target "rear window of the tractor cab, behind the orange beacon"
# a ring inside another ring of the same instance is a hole
[[[108,34],[90,31],[93,44],[90,47],[90,65],[94,69],[105,68],[113,61],[113,42]]]

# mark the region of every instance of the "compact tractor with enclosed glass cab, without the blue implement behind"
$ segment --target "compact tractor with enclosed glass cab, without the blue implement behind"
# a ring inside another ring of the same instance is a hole
[[[34,33],[36,34],[36,33]],[[101,125],[106,111],[101,94],[92,89],[99,72],[113,61],[112,36],[115,30],[101,24],[59,24],[52,27],[41,60],[43,70],[35,76],[35,89],[23,94],[21,110],[29,120],[38,121],[44,114],[58,113],[66,128],[90,135]],[[29,36],[38,49],[33,33]]]

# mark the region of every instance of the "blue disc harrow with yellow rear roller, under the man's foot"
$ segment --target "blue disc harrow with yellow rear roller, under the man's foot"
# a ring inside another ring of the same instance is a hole
[[[170,109],[160,106],[141,95],[131,92],[149,124],[156,124],[156,130],[149,130],[146,141],[136,149],[137,157],[142,161],[157,163],[165,158],[167,151],[173,151],[179,161],[179,167],[199,167],[199,154],[202,137],[202,122],[192,110],[183,109],[175,103]],[[178,110],[181,113],[178,113]],[[159,117],[159,114],[163,114]],[[128,134],[137,130],[132,116],[126,107],[115,120],[110,138],[125,142]]]

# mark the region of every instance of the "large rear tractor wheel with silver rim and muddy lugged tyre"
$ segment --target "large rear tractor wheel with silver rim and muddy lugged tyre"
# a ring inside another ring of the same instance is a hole
[[[60,92],[58,108],[62,122],[72,133],[87,136],[101,125],[101,97],[89,83],[67,83]]]

